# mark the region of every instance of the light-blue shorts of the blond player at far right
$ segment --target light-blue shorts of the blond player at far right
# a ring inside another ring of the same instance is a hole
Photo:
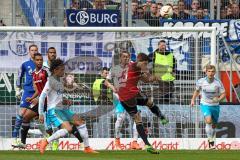
[[[216,124],[219,118],[220,107],[218,106],[208,106],[200,104],[201,111],[204,117],[212,117],[213,123]]]

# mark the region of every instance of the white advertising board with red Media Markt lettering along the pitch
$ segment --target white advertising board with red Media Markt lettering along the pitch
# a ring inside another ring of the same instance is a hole
[[[38,150],[39,138],[27,138],[25,150]],[[207,138],[149,138],[149,143],[158,150],[208,150]],[[14,138],[0,138],[0,150],[12,150]],[[95,150],[115,150],[114,138],[89,138],[89,145]],[[130,150],[132,139],[121,138],[121,150]],[[140,147],[144,149],[142,140],[138,140]],[[83,144],[76,138],[61,138],[58,144],[59,150],[83,151]],[[240,150],[239,138],[217,138],[216,150]],[[100,151],[101,153],[101,151]]]

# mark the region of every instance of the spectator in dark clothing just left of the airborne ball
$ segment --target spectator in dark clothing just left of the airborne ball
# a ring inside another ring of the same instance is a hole
[[[149,24],[149,26],[159,26],[159,19],[160,19],[160,13],[157,9],[157,4],[152,3],[150,12],[146,12],[144,15],[145,21]]]

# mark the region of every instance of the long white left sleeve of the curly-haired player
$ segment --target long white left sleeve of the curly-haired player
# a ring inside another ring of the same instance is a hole
[[[47,83],[45,84],[43,91],[39,97],[39,103],[38,103],[38,113],[39,115],[42,115],[44,112],[44,103],[45,103],[45,99],[48,95],[50,91],[50,86],[49,86],[49,82],[47,81]]]

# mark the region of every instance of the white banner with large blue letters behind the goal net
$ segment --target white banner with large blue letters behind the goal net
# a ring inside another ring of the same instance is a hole
[[[98,74],[111,66],[115,45],[115,33],[110,32],[0,32],[0,37],[1,72],[16,72],[30,58],[28,47],[36,44],[44,60],[47,49],[55,47],[57,57],[68,62],[68,71]]]

